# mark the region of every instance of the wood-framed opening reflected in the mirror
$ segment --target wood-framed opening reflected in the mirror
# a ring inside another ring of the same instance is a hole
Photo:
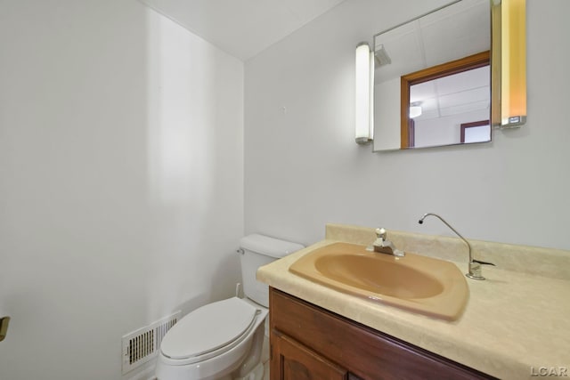
[[[403,76],[401,148],[491,141],[491,128],[484,135],[478,124],[490,117],[489,63],[483,52]]]

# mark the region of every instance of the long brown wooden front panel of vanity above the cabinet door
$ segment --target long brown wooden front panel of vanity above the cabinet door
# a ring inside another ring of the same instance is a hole
[[[350,371],[350,380],[355,375],[367,380],[493,378],[274,288],[271,289],[269,300],[272,338],[273,333],[279,334],[305,350],[317,352],[315,354],[328,358],[328,362]],[[281,371],[279,368],[275,371]],[[295,380],[297,378],[293,377]],[[328,380],[342,377],[313,378]]]

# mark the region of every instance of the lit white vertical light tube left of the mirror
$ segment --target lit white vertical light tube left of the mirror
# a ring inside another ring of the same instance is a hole
[[[355,141],[358,144],[368,144],[372,141],[373,133],[371,76],[374,73],[374,57],[368,43],[362,42],[356,46],[355,58]]]

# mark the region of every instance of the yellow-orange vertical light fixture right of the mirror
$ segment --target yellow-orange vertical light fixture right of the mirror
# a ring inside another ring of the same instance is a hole
[[[501,0],[501,128],[526,122],[526,0]]]

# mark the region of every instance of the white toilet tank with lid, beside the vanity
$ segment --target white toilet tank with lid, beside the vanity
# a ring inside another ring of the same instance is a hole
[[[240,239],[240,248],[243,293],[256,303],[269,307],[269,287],[256,280],[257,268],[292,254],[304,246],[254,233]]]

